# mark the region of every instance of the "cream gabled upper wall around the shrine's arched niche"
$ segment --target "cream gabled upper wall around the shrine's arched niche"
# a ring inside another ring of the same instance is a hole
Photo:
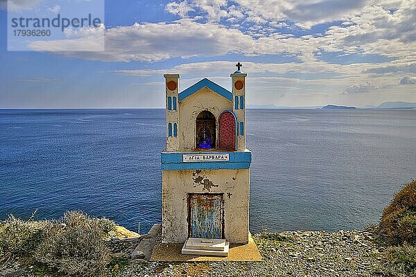
[[[216,118],[216,145],[218,145],[218,119],[223,111],[232,111],[232,102],[218,93],[203,87],[180,102],[178,126],[180,152],[193,151],[196,141],[196,117],[201,111],[208,110]]]

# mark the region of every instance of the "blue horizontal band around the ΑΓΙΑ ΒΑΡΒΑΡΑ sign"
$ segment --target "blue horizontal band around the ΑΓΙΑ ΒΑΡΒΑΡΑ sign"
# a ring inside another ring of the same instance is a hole
[[[184,154],[225,154],[229,161],[197,161],[184,163]],[[162,152],[162,170],[198,170],[198,169],[244,169],[250,168],[251,152]]]

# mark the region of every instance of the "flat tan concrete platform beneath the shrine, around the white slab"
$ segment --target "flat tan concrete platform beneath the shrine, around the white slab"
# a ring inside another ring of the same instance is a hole
[[[227,257],[184,255],[181,253],[183,243],[159,243],[153,249],[150,261],[164,262],[207,262],[207,261],[261,261],[261,255],[252,236],[248,244],[231,244]]]

